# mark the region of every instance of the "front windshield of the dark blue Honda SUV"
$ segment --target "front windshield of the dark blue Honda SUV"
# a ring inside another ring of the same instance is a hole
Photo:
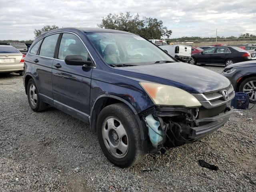
[[[86,33],[107,64],[144,65],[175,62],[160,48],[134,34]]]

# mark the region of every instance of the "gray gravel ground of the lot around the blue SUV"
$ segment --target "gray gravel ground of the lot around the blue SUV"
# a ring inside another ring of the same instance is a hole
[[[235,112],[202,142],[121,169],[84,122],[53,107],[32,112],[17,74],[0,74],[0,98],[1,192],[256,191],[256,107]],[[200,167],[200,159],[219,170]]]

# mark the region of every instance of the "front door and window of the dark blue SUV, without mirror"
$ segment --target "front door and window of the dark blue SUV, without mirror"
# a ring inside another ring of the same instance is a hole
[[[65,63],[68,55],[81,55],[91,61],[86,47],[78,36],[63,33],[59,50],[52,65],[54,105],[81,120],[88,117],[92,67]]]

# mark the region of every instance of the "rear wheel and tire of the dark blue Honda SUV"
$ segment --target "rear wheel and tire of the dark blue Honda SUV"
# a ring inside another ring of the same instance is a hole
[[[47,104],[43,102],[39,96],[38,88],[33,79],[28,81],[27,85],[28,103],[33,111],[40,112],[47,108]]]

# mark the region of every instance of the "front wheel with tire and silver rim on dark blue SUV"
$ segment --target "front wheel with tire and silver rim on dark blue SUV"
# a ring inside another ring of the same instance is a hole
[[[102,152],[116,166],[133,166],[146,155],[134,113],[125,104],[112,104],[102,109],[97,134]]]

